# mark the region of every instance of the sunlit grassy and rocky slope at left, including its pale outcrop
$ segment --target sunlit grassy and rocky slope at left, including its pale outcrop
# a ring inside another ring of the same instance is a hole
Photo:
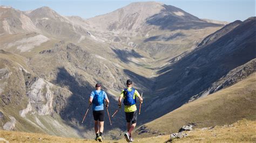
[[[0,51],[1,129],[80,137],[58,114],[71,92],[36,76],[22,56]]]

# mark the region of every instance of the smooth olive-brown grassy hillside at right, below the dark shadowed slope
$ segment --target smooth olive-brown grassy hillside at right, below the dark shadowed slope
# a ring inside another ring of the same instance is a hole
[[[256,73],[224,90],[215,92],[145,124],[151,131],[138,135],[151,137],[159,133],[177,132],[183,125],[196,128],[231,124],[242,118],[256,119]],[[152,132],[156,132],[152,134]]]

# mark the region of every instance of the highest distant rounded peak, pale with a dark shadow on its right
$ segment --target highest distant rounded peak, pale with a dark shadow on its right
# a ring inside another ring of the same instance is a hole
[[[124,8],[88,20],[95,28],[115,33],[139,31],[141,34],[146,34],[153,30],[152,26],[161,30],[220,26],[220,24],[207,23],[175,6],[157,2],[131,3]]]

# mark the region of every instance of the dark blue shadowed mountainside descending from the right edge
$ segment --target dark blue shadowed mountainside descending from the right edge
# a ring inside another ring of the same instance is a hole
[[[146,113],[154,111],[161,116],[187,103],[192,96],[205,96],[219,78],[255,59],[255,25],[256,18],[249,18],[211,44],[202,45],[159,70],[161,75],[156,77],[151,95],[158,96],[145,105]]]

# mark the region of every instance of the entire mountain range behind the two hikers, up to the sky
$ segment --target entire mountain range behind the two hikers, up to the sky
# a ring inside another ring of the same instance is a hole
[[[224,101],[230,88],[251,95],[242,104],[255,104],[255,81],[248,80],[255,77],[255,23],[255,17],[233,23],[200,19],[157,2],[131,3],[89,19],[62,16],[46,6],[32,11],[1,6],[0,128],[92,138],[91,111],[81,123],[90,92],[102,83],[113,113],[129,78],[144,97],[138,137],[177,130],[156,127],[166,118],[168,125],[184,120],[198,121],[199,127],[255,120],[252,106],[239,115],[237,106],[222,113],[232,120],[196,113],[208,124],[184,110],[211,112],[210,97]],[[252,88],[240,85],[245,81]],[[119,139],[126,128],[124,114],[112,122],[106,118],[104,136]]]

